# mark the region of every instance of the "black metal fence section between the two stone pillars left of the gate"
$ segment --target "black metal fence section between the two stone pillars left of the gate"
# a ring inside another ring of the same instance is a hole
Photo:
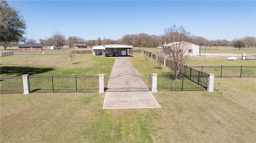
[[[98,92],[98,76],[29,76],[31,92]]]

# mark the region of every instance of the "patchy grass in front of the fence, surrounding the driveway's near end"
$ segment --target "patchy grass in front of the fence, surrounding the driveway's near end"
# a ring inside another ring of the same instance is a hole
[[[104,94],[1,94],[1,142],[256,142],[255,78],[158,92],[162,108],[103,110]]]

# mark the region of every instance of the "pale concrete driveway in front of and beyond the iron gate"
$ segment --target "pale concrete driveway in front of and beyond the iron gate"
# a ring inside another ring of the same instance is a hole
[[[124,72],[138,74],[128,60],[131,57],[113,57],[115,59],[111,76]],[[110,83],[109,83],[110,84]],[[122,83],[114,83],[122,84]],[[111,85],[109,85],[111,86]],[[140,92],[106,92],[103,109],[129,109],[129,108],[161,108],[153,94],[149,91]]]

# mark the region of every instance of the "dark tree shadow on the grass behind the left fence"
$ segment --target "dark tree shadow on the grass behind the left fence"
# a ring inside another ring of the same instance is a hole
[[[40,74],[43,72],[53,71],[54,68],[35,68],[35,67],[1,67],[1,75],[6,76],[21,76],[23,74]]]

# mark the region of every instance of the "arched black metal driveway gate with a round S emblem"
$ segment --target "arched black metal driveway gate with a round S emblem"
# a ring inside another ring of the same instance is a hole
[[[150,91],[151,75],[139,76],[125,72],[112,77],[105,77],[105,92]]]

